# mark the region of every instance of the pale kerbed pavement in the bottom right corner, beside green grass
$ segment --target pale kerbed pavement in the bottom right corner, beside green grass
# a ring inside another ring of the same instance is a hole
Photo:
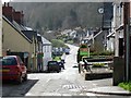
[[[88,93],[103,94],[103,95],[120,95],[120,96],[131,96],[131,91],[124,90],[119,86],[105,86],[88,89]]]

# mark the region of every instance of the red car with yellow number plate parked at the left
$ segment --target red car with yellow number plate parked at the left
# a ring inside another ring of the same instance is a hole
[[[5,56],[0,59],[0,64],[2,64],[0,70],[2,73],[2,81],[13,79],[17,83],[27,81],[27,69],[20,57]]]

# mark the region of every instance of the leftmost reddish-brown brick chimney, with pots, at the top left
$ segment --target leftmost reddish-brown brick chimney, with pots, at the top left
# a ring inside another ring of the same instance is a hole
[[[12,7],[5,5],[7,3],[4,2],[4,5],[2,7],[2,14],[9,20],[9,21],[13,21],[13,9]]]

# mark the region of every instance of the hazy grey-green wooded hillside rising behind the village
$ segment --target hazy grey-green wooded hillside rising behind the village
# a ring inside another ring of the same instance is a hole
[[[102,25],[98,8],[103,2],[12,2],[11,5],[24,12],[27,26],[39,30]]]

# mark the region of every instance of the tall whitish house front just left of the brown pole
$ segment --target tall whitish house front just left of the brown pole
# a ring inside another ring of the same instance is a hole
[[[107,36],[107,50],[115,51],[115,57],[119,57],[119,41],[123,38],[123,8],[121,2],[114,2],[114,16],[111,19],[111,29]]]

